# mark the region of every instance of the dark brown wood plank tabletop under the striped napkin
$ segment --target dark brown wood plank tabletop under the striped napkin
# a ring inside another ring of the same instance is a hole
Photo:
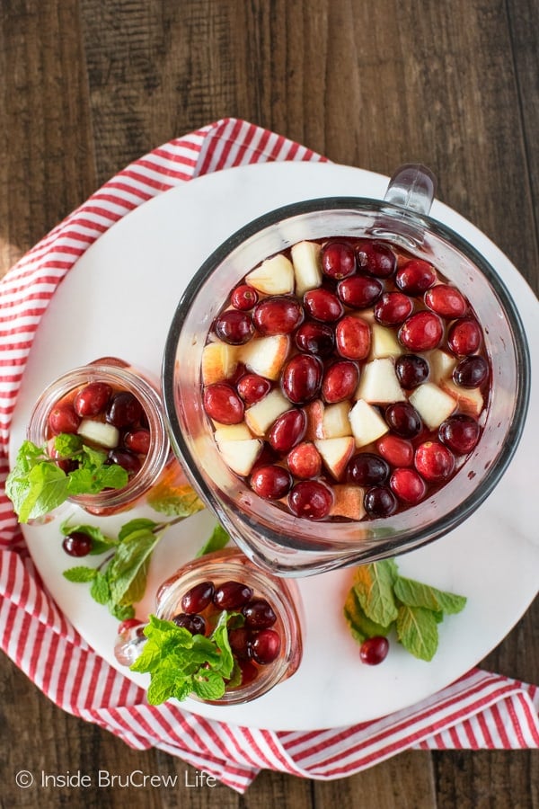
[[[438,198],[536,290],[538,18],[539,0],[2,0],[0,273],[130,161],[234,116],[379,173],[428,164]],[[536,600],[482,664],[538,682],[538,618]],[[243,797],[25,791],[20,769],[194,771],[66,715],[4,655],[0,667],[6,809],[539,806],[537,751],[411,751],[329,783],[263,772]]]

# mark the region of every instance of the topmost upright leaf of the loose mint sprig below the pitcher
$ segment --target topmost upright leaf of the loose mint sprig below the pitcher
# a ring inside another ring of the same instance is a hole
[[[361,609],[376,624],[389,627],[397,618],[397,605],[393,598],[393,582],[397,565],[393,559],[384,559],[358,567],[354,576],[354,591]]]

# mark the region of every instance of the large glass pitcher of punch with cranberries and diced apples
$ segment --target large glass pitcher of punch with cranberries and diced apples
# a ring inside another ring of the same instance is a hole
[[[274,572],[445,534],[516,449],[526,338],[495,269],[429,217],[433,190],[405,166],[384,200],[273,211],[210,256],[177,309],[163,363],[172,447]]]

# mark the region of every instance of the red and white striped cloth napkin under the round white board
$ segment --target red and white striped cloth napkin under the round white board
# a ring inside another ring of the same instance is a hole
[[[342,778],[403,750],[539,747],[539,689],[473,669],[411,708],[373,722],[309,732],[225,725],[177,705],[151,707],[144,689],[93,652],[40,580],[4,494],[13,407],[40,317],[86,248],[130,210],[223,168],[324,160],[243,120],[225,119],[137,160],[40,241],[0,283],[0,643],[57,706],[134,748],[157,747],[238,792],[261,769]]]

